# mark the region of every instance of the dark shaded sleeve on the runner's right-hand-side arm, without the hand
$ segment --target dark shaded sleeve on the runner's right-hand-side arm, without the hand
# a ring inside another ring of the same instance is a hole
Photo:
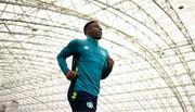
[[[105,79],[105,78],[109,75],[109,73],[112,72],[112,70],[113,70],[113,66],[109,66],[109,65],[108,65],[108,62],[107,62],[107,60],[106,60],[105,63],[104,63],[103,71],[102,71],[102,77],[101,77],[101,79]]]

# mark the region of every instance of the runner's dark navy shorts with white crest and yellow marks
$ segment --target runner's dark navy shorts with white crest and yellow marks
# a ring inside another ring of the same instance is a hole
[[[73,88],[68,90],[68,101],[73,112],[95,112],[98,96],[93,96],[86,91],[74,91]]]

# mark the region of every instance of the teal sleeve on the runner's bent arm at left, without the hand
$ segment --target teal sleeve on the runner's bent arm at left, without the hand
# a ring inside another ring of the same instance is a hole
[[[78,39],[72,40],[57,55],[56,60],[58,62],[58,65],[64,74],[69,71],[66,58],[77,53],[78,48]]]

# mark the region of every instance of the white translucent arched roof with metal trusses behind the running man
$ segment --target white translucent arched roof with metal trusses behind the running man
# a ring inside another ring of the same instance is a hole
[[[194,0],[0,0],[0,104],[69,112],[56,55],[90,20],[115,60],[98,112],[195,111]]]

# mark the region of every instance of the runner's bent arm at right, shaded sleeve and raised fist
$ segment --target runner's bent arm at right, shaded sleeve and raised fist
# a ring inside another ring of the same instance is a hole
[[[104,67],[103,67],[101,79],[105,79],[109,75],[109,73],[113,70],[113,65],[114,65],[114,60],[108,57],[108,59],[104,63]]]

